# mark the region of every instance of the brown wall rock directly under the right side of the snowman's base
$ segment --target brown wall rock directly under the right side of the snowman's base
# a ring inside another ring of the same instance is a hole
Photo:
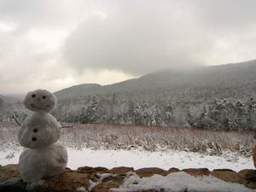
[[[68,171],[67,169],[61,173],[59,176],[51,177],[42,185],[39,185],[32,189],[32,192],[74,192],[76,189],[84,187],[88,189],[89,187],[89,177],[88,174]]]

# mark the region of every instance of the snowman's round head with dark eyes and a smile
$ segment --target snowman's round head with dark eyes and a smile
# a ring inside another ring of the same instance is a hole
[[[55,108],[56,96],[48,90],[33,90],[26,94],[23,104],[35,112],[49,113]]]

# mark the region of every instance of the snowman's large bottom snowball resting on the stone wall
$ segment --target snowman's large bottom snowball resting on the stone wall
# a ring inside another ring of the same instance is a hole
[[[67,150],[61,143],[55,143],[45,148],[29,148],[20,154],[20,177],[26,183],[58,175],[66,166]]]

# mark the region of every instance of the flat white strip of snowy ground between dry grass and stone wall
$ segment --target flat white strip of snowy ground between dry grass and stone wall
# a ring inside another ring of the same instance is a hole
[[[17,164],[22,148],[15,150],[0,151],[0,165]],[[169,170],[172,167],[178,169],[203,168],[232,169],[236,172],[242,169],[254,169],[253,158],[245,158],[224,151],[220,156],[203,155],[199,153],[167,150],[164,152],[148,152],[144,150],[81,150],[67,148],[68,163],[71,169],[80,166],[104,166],[113,168],[115,166],[130,166],[134,169],[143,167],[160,167]]]

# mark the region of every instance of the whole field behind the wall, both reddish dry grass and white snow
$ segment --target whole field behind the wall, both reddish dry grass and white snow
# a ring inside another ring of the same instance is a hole
[[[0,165],[17,164],[21,151],[14,124],[0,124]],[[62,131],[71,169],[130,166],[254,169],[251,133],[191,131],[117,125],[75,125]]]

